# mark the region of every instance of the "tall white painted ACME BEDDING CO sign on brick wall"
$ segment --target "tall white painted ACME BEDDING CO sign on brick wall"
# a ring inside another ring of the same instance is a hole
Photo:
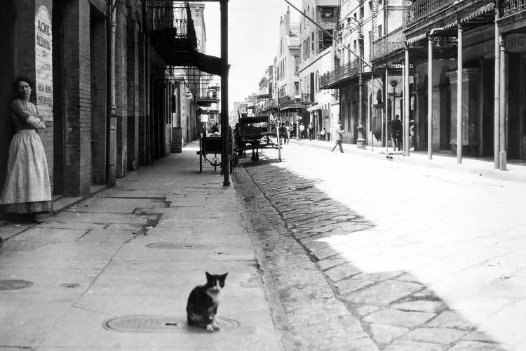
[[[36,105],[46,121],[53,121],[53,36],[46,6],[40,6],[35,17]]]

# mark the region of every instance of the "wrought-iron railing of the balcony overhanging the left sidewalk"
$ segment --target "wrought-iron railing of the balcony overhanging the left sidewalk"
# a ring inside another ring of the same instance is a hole
[[[147,1],[146,6],[151,30],[175,29],[175,37],[187,37],[189,8],[186,4]]]

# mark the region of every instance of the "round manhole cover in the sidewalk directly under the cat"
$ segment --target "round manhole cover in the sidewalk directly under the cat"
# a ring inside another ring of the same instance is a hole
[[[225,317],[217,317],[222,331],[236,329],[238,321]],[[102,324],[105,329],[124,332],[146,333],[180,333],[180,332],[207,332],[202,327],[188,326],[186,317],[173,316],[123,316],[109,319]]]

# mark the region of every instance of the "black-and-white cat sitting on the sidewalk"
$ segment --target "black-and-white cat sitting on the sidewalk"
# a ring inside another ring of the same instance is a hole
[[[189,326],[206,326],[207,331],[220,330],[217,324],[217,306],[223,297],[222,289],[227,274],[206,274],[206,284],[196,286],[188,296],[187,321]]]

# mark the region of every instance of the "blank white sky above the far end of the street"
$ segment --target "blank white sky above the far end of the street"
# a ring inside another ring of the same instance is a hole
[[[301,8],[302,0],[289,0]],[[205,3],[206,53],[221,56],[220,6]],[[284,0],[229,0],[229,105],[259,93],[259,80],[278,53],[279,19],[287,12]],[[290,7],[292,22],[299,13]]]

